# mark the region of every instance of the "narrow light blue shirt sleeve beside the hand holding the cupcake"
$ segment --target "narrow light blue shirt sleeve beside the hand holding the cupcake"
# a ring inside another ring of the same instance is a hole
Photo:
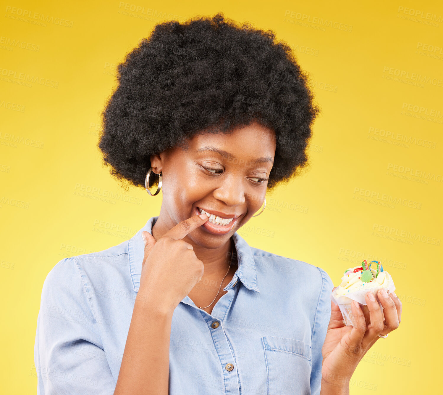
[[[312,329],[311,339],[311,395],[320,394],[322,381],[322,347],[325,342],[326,331],[328,329],[331,315],[330,294],[334,284],[329,275],[321,268],[318,268],[322,276],[322,285],[320,288],[319,301],[315,312],[314,327]]]

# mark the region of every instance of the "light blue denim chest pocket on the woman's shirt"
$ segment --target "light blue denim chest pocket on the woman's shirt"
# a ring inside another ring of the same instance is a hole
[[[311,346],[289,337],[262,336],[267,395],[311,395]]]

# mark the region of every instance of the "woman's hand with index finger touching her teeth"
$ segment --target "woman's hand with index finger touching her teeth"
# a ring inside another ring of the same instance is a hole
[[[149,232],[142,232],[145,246],[137,296],[148,297],[156,308],[171,313],[202,279],[203,262],[182,239],[208,219],[206,215],[203,218],[194,215],[185,219],[157,241]]]

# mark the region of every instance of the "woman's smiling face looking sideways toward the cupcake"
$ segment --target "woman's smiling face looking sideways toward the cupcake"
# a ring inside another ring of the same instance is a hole
[[[155,172],[163,172],[161,220],[171,228],[201,214],[199,208],[218,215],[223,223],[208,220],[187,236],[197,245],[217,248],[262,206],[275,132],[253,122],[229,134],[198,134],[188,141],[187,150],[174,147],[151,156]]]

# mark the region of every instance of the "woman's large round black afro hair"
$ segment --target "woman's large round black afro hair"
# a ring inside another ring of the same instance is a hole
[[[276,133],[268,191],[307,165],[320,109],[308,74],[271,30],[237,26],[222,12],[159,23],[118,64],[117,80],[97,146],[126,190],[144,187],[151,155],[252,121]]]

